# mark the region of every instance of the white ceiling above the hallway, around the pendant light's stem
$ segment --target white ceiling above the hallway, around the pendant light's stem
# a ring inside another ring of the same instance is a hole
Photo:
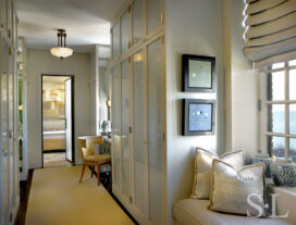
[[[57,29],[66,29],[74,51],[89,52],[95,43],[110,43],[110,22],[124,0],[16,0],[18,36],[28,48],[57,46]]]

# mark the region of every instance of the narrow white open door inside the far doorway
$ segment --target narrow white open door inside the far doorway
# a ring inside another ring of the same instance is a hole
[[[72,145],[72,79],[65,80],[65,159],[73,162]]]

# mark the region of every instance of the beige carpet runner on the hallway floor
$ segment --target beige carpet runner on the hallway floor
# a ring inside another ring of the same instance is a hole
[[[26,225],[132,225],[102,185],[82,166],[35,170]]]

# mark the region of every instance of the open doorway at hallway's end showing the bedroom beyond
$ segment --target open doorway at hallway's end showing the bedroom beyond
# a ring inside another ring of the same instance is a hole
[[[74,76],[41,75],[42,167],[75,163]]]

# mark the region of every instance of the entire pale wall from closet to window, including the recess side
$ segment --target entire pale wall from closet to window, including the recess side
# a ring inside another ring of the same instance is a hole
[[[172,203],[187,198],[192,191],[197,146],[218,153],[244,148],[247,159],[257,152],[257,78],[242,51],[243,9],[243,0],[165,2],[169,224]],[[209,93],[182,92],[183,53],[217,59],[215,136],[181,135],[182,99],[215,98]]]

